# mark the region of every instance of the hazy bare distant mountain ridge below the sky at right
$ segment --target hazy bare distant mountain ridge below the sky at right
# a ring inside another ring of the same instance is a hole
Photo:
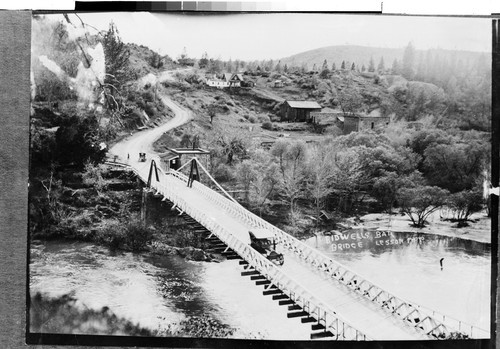
[[[288,66],[301,66],[302,64],[307,64],[309,69],[312,69],[313,65],[316,64],[317,68],[320,69],[326,59],[328,63],[328,68],[332,67],[332,63],[340,68],[342,61],[346,63],[349,62],[350,68],[351,64],[354,62],[356,66],[361,68],[364,65],[368,69],[370,59],[373,58],[375,67],[380,62],[380,59],[384,58],[385,68],[390,68],[394,59],[399,62],[403,59],[403,53],[405,48],[383,48],[383,47],[369,47],[369,46],[357,46],[357,45],[339,45],[339,46],[326,46],[317,48],[314,50],[309,50],[305,52],[300,52],[295,55],[281,58],[281,63],[287,64]],[[438,54],[441,57],[452,57],[455,56],[457,59],[462,59],[464,62],[469,62],[474,59],[478,59],[481,55],[489,55],[488,52],[472,52],[472,51],[459,51],[459,50],[444,50],[444,49],[429,49],[429,50],[416,50],[417,62],[420,55],[426,55],[430,51],[433,55]]]

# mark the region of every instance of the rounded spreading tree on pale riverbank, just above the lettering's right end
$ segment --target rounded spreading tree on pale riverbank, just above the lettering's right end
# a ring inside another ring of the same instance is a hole
[[[399,190],[397,199],[401,211],[410,217],[413,226],[423,228],[429,215],[446,203],[448,195],[445,189],[419,185]]]

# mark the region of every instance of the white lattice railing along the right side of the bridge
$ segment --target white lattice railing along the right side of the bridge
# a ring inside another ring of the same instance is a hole
[[[171,171],[169,174],[187,183],[187,177],[182,173]],[[243,206],[227,199],[200,182],[195,181],[193,188],[201,192],[210,201],[226,210],[228,213],[244,221],[250,227],[264,228],[275,234],[277,240],[286,248],[316,268],[326,272],[352,291],[361,294],[366,299],[378,304],[381,308],[404,320],[408,325],[435,338],[446,338],[452,332],[460,332],[470,338],[488,338],[489,332],[461,320],[441,314],[421,305],[406,301],[384,290],[375,283],[368,281],[358,273],[334,261],[317,249],[303,243],[290,234],[278,229],[272,224],[245,209]]]

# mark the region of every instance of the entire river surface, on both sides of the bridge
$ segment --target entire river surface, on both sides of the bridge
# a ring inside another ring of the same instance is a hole
[[[489,328],[489,245],[376,232],[318,236],[306,243],[401,298]],[[50,241],[32,245],[30,292],[71,294],[88,308],[107,306],[152,330],[208,315],[235,328],[234,338],[308,340],[310,326],[288,319],[287,307],[263,296],[263,286],[242,277],[242,270],[234,260],[194,262]]]

